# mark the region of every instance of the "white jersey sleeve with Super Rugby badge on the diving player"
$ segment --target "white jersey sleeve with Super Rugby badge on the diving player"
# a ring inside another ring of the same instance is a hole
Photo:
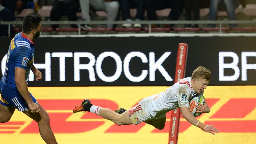
[[[186,85],[179,85],[177,90],[177,98],[178,98],[178,105],[179,107],[189,107],[189,96],[191,90]]]

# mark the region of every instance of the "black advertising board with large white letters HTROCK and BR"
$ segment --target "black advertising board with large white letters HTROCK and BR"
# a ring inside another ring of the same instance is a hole
[[[1,38],[1,73],[9,38]],[[188,43],[185,77],[199,65],[211,86],[256,84],[255,37],[38,38],[34,65],[43,73],[29,86],[170,86],[178,43]]]

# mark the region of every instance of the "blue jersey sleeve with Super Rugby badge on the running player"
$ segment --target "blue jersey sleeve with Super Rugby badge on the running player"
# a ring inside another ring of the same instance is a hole
[[[27,64],[31,59],[31,50],[26,47],[19,47],[15,53],[15,67],[21,67],[27,69]]]

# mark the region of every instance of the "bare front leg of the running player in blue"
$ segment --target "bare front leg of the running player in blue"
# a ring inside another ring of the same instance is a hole
[[[38,123],[40,135],[47,144],[57,144],[50,127],[49,115],[39,103],[37,104],[40,106],[39,113],[32,113],[30,110],[25,111],[24,113]]]

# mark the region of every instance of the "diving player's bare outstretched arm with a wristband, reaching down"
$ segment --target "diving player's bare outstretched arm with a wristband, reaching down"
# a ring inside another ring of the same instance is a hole
[[[187,107],[180,107],[182,117],[185,118],[188,122],[190,122],[192,125],[197,126],[201,128],[203,131],[206,131],[208,133],[211,133],[215,135],[215,133],[218,133],[218,129],[216,129],[214,126],[211,125],[205,125],[202,122],[200,122],[198,119],[196,119],[189,111]],[[215,133],[214,133],[215,132]]]

